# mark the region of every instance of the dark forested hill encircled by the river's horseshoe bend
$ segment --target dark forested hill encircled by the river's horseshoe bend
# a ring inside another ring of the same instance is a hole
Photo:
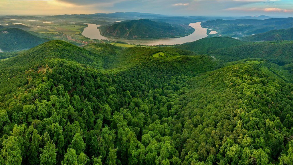
[[[190,26],[171,25],[165,22],[139,19],[123,21],[110,26],[101,26],[102,35],[114,38],[150,39],[182,37],[194,32]]]

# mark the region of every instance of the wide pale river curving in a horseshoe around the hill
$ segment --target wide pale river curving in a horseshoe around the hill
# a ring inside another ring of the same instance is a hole
[[[98,40],[111,40],[111,41],[122,41],[129,44],[136,44],[136,45],[175,45],[175,44],[183,44],[186,42],[196,41],[202,38],[207,37],[207,28],[202,28],[200,22],[190,23],[189,26],[193,27],[195,31],[185,37],[180,38],[166,38],[166,39],[154,39],[154,40],[129,40],[129,39],[117,39],[117,38],[110,38],[105,37],[100,34],[100,30],[97,28],[100,25],[96,24],[87,24],[88,27],[84,28],[82,35],[87,38],[91,39],[98,39]]]

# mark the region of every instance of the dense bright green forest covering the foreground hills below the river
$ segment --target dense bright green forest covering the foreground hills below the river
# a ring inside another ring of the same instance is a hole
[[[4,54],[11,58],[0,62],[0,164],[292,165],[286,44],[53,40]]]

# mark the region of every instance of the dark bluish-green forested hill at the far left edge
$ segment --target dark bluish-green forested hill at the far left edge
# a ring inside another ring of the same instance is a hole
[[[18,28],[0,29],[0,49],[5,52],[29,49],[46,41]]]

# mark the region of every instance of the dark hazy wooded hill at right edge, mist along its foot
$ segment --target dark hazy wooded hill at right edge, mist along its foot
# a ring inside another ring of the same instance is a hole
[[[271,30],[269,32],[249,35],[241,37],[242,41],[277,41],[277,40],[293,40],[293,28]]]

